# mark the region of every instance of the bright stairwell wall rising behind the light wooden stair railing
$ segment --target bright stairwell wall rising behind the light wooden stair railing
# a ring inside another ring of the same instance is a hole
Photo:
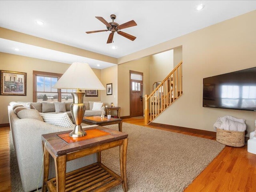
[[[150,62],[150,92],[153,91],[154,82],[162,82],[173,70],[173,50],[158,53],[152,56]]]

